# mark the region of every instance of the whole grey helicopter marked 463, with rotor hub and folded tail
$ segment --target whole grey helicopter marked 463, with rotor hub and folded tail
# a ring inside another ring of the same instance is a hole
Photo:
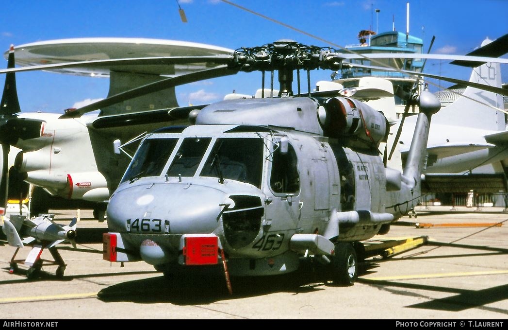
[[[388,232],[418,203],[440,103],[428,91],[414,96],[410,152],[402,172],[392,169],[379,152],[390,129],[383,112],[351,90],[300,93],[300,70],[310,91],[311,70],[340,65],[333,49],[288,40],[236,50],[223,70],[261,71],[262,91],[265,72],[273,91],[276,71],[278,96],[211,104],[190,111],[194,125],[148,134],[109,200],[104,259],[143,260],[168,277],[222,264],[230,287],[230,274],[289,273],[312,258],[328,281],[352,285],[361,241]]]

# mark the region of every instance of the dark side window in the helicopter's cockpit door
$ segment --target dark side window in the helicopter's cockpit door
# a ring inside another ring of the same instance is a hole
[[[281,153],[280,148],[275,150],[270,175],[270,187],[274,193],[296,193],[300,190],[297,162],[298,159],[291,144],[288,144],[287,153]]]

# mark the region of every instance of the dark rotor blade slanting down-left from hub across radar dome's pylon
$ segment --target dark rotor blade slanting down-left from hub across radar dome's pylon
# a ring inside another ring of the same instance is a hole
[[[238,73],[238,70],[229,69],[227,66],[220,66],[217,68],[193,72],[193,73],[177,76],[174,78],[167,78],[164,80],[152,82],[152,83],[149,83],[149,84],[137,87],[137,88],[130,89],[129,91],[118,93],[118,94],[108,97],[104,100],[89,104],[89,105],[81,107],[79,109],[75,109],[75,110],[73,109],[71,111],[66,112],[66,114],[61,115],[60,118],[79,117],[86,112],[99,110],[103,107],[117,104],[117,103],[123,102],[125,100],[133,99],[138,96],[143,96],[143,95],[147,95],[147,94],[150,94],[153,92],[162,91],[163,89],[166,89],[166,88],[170,88],[170,87],[174,87],[177,85],[182,85],[182,84],[186,84],[186,83],[190,83],[190,82],[195,82],[195,81],[199,81],[199,80],[204,80],[204,79],[233,75],[236,73]]]

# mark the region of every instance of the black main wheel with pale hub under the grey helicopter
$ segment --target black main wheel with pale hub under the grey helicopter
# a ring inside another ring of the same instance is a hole
[[[358,257],[350,243],[335,245],[330,268],[333,284],[349,286],[355,283],[358,278]]]

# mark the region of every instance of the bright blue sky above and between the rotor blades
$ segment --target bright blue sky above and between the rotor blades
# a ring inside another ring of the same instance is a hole
[[[397,31],[406,29],[406,0],[232,2],[340,46],[358,43],[362,29],[391,31],[393,21]],[[185,11],[187,23],[180,20],[178,4]],[[1,17],[2,50],[10,44],[83,37],[170,39],[231,49],[279,39],[329,46],[220,0],[18,0],[4,2]],[[409,33],[423,38],[425,51],[435,36],[432,53],[465,54],[479,47],[486,37],[496,39],[508,33],[508,0],[409,1]],[[469,69],[451,66],[447,61],[429,60],[425,71],[465,80],[470,75]],[[502,80],[507,82],[508,70],[503,67],[502,71]],[[329,80],[330,73],[319,70],[312,74],[311,86]],[[104,98],[108,93],[108,80],[104,78],[47,72],[19,73],[16,78],[23,111],[62,112],[77,102]],[[181,105],[205,104],[221,100],[233,89],[254,94],[260,86],[261,74],[241,73],[177,87],[177,98]]]

